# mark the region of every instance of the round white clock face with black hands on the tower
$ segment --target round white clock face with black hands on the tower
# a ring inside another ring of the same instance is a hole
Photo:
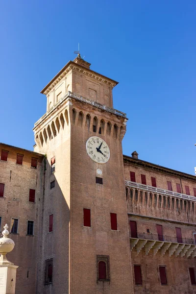
[[[90,137],[86,141],[86,151],[95,162],[106,163],[110,158],[110,149],[107,143],[99,137]]]

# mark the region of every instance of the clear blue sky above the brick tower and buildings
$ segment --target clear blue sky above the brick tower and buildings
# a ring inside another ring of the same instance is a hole
[[[1,142],[33,149],[40,91],[80,42],[91,69],[119,81],[123,153],[194,174],[196,1],[1,1],[0,36]]]

